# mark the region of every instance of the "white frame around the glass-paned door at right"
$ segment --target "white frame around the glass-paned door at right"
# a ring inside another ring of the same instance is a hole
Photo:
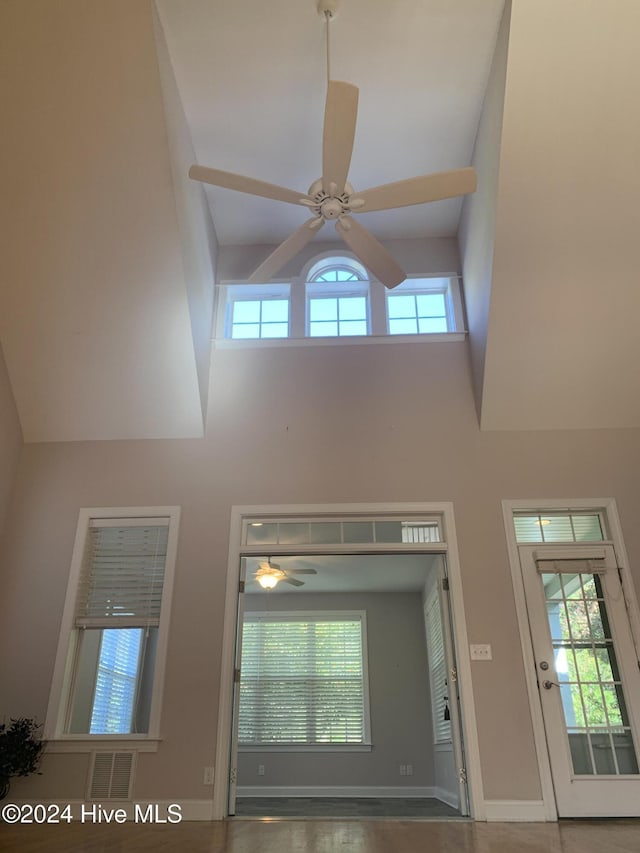
[[[520,566],[520,554],[518,551],[518,543],[516,542],[515,528],[513,525],[513,514],[514,512],[526,512],[527,510],[531,512],[552,512],[553,510],[570,511],[588,509],[592,509],[595,512],[604,513],[609,533],[611,534],[611,538],[607,539],[604,544],[609,544],[613,546],[618,566],[620,566],[623,571],[626,570],[622,589],[627,605],[627,613],[631,626],[631,634],[633,636],[636,649],[639,649],[640,609],[638,608],[638,600],[635,594],[633,578],[629,572],[629,557],[627,556],[627,552],[624,547],[624,541],[622,538],[622,528],[620,526],[620,517],[618,515],[618,509],[616,507],[615,499],[577,498],[568,500],[558,498],[543,498],[540,500],[502,501],[504,526],[507,537],[507,549],[509,552],[509,564],[511,567],[511,580],[513,582],[516,615],[518,619],[518,628],[520,630],[520,645],[522,649],[525,682],[527,685],[527,693],[529,696],[529,707],[531,709],[533,737],[535,742],[536,755],[538,758],[538,770],[540,773],[542,800],[544,802],[544,814],[546,820],[548,821],[558,820],[558,810],[556,808],[553,779],[551,776],[551,765],[549,762],[549,753],[547,751],[547,739],[544,728],[544,720],[542,716],[542,705],[540,703],[540,691],[538,689],[538,681],[536,676],[535,656],[533,652],[531,631],[529,628],[529,616],[527,613],[524,583],[522,579],[522,569]]]

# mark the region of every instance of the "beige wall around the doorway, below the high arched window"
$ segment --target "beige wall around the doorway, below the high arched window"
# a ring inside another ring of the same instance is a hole
[[[1,555],[3,713],[45,714],[79,507],[179,504],[163,742],[135,793],[205,798],[231,506],[450,500],[469,641],[493,647],[472,664],[485,795],[538,799],[501,500],[615,497],[635,572],[639,432],[481,433],[465,343],[216,352],[211,381],[204,439],[25,446]],[[68,792],[67,761],[16,792]]]

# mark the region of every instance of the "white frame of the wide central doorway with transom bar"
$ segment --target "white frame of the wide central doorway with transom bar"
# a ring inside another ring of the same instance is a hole
[[[458,679],[462,706],[462,734],[465,744],[467,763],[467,784],[470,816],[475,820],[485,820],[485,805],[480,768],[480,749],[476,726],[473,684],[471,681],[471,661],[467,639],[467,623],[462,594],[460,561],[456,540],[453,504],[442,503],[358,503],[358,504],[286,504],[264,506],[234,506],[231,509],[229,531],[229,560],[227,563],[227,584],[225,593],[224,628],[222,641],[222,661],[220,671],[220,700],[218,706],[218,728],[216,746],[215,782],[213,790],[213,820],[222,820],[227,816],[227,796],[229,787],[231,729],[233,714],[233,677],[236,652],[236,620],[238,608],[240,557],[251,553],[264,553],[264,545],[243,546],[242,528],[245,518],[272,517],[295,518],[328,516],[332,519],[353,516],[362,518],[388,516],[399,518],[407,514],[439,515],[445,531],[445,542],[424,543],[412,546],[416,553],[446,553],[449,573],[449,589],[453,612],[453,636],[456,645]],[[399,543],[368,546],[377,553],[398,552],[404,550]],[[363,553],[367,546],[340,545],[338,548],[327,546],[277,546],[278,553]]]

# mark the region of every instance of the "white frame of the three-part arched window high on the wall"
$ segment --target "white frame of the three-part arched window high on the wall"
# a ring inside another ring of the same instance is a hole
[[[315,282],[315,276],[332,268],[352,270],[357,281]],[[464,311],[460,288],[460,276],[457,272],[443,271],[438,274],[411,274],[396,288],[388,290],[354,256],[348,253],[325,252],[309,261],[300,275],[266,284],[248,284],[241,281],[223,281],[217,285],[217,310],[214,347],[218,349],[243,349],[252,347],[287,346],[335,346],[363,344],[397,344],[442,341],[463,341],[466,337]],[[316,292],[326,293],[327,297],[362,296],[367,298],[367,334],[366,335],[309,335],[309,298]],[[446,332],[416,332],[410,335],[389,334],[387,294],[408,293],[444,293],[446,297]],[[287,338],[231,338],[231,306],[241,299],[289,299],[289,336]]]

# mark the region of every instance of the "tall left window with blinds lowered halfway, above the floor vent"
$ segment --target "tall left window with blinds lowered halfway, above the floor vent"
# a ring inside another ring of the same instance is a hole
[[[58,653],[66,680],[50,737],[148,736],[157,725],[178,519],[170,512],[81,511]]]

